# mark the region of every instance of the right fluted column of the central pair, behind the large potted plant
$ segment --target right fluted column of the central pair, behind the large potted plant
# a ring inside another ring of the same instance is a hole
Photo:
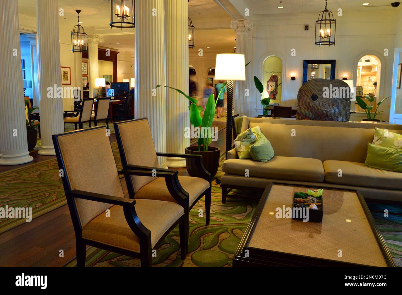
[[[165,80],[166,85],[189,94],[189,5],[187,0],[165,0]],[[166,94],[166,151],[185,154],[190,139],[189,100],[170,88]],[[184,158],[167,158],[168,167],[185,167]]]

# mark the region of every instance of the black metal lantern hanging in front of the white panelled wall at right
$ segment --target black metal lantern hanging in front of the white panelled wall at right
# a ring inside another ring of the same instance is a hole
[[[316,20],[315,45],[334,45],[335,44],[336,20],[332,12],[327,9],[327,0],[325,0],[325,9],[318,15]]]

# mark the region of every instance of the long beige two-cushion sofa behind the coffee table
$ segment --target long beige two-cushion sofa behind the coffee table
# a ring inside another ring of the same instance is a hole
[[[374,128],[402,133],[402,125],[244,117],[241,132],[257,125],[275,156],[267,163],[240,160],[236,150],[230,150],[222,166],[222,202],[230,188],[261,191],[271,182],[316,187],[325,183],[358,190],[368,199],[402,201],[402,173],[364,164]]]

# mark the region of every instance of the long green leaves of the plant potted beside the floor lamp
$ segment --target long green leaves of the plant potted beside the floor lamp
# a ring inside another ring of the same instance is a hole
[[[223,84],[221,91],[219,91],[219,95],[222,93],[222,90],[225,88],[227,82]],[[208,151],[208,146],[212,142],[212,121],[213,117],[215,116],[215,108],[218,100],[215,101],[215,96],[213,93],[209,96],[207,104],[205,105],[205,111],[204,114],[201,118],[201,112],[202,112],[202,107],[197,106],[197,100],[191,96],[188,96],[185,94],[183,91],[180,89],[176,89],[170,86],[164,86],[164,85],[157,85],[156,88],[158,87],[166,87],[170,88],[173,90],[176,90],[178,93],[182,94],[187,98],[188,100],[191,101],[191,104],[189,106],[190,109],[190,123],[194,127],[199,127],[201,130],[201,136],[198,138],[198,151],[201,152],[207,152]]]

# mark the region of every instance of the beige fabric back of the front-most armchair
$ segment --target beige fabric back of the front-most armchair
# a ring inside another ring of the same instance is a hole
[[[105,127],[59,135],[57,142],[70,190],[124,197]],[[78,198],[75,204],[82,227],[112,206]]]

